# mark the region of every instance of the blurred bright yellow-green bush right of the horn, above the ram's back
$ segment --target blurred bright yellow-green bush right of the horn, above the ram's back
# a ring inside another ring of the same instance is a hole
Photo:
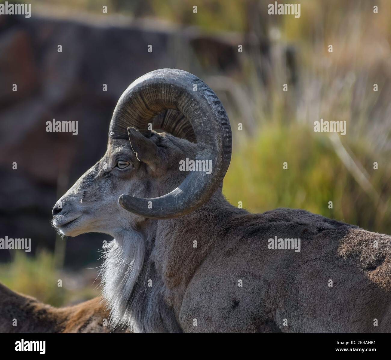
[[[238,206],[241,201],[243,208],[252,212],[300,208],[391,233],[391,172],[385,166],[389,154],[384,158],[376,155],[382,165],[373,170],[371,151],[360,146],[355,149],[355,155],[368,169],[371,183],[382,193],[382,201],[387,199],[384,208],[355,181],[327,136],[307,126],[269,123],[251,138],[236,141],[241,145],[233,152],[223,187],[231,204]],[[287,170],[283,169],[284,162]],[[333,202],[332,209],[329,201]]]

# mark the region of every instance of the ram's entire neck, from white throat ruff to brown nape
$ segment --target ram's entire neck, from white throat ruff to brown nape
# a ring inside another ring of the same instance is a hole
[[[137,230],[116,234],[102,266],[113,325],[135,332],[179,332],[176,317],[187,285],[238,213],[246,211],[217,192],[189,215],[147,220]]]

